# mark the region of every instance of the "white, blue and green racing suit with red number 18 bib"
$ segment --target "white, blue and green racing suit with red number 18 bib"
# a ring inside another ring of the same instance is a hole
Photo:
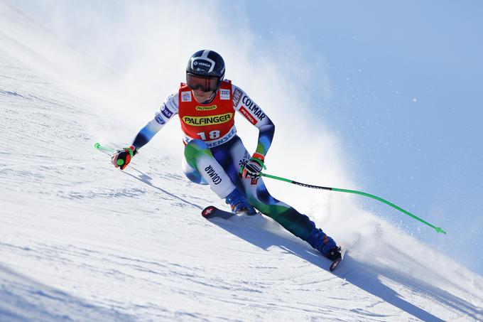
[[[207,104],[197,102],[190,88],[181,83],[179,90],[168,95],[153,119],[137,134],[132,145],[140,149],[178,114],[185,144],[183,171],[190,181],[209,184],[222,199],[236,186],[260,213],[276,220],[325,255],[336,245],[332,238],[315,227],[306,215],[273,198],[262,178],[258,178],[256,184],[252,184],[251,179],[240,178],[239,170],[251,155],[237,136],[235,111],[259,129],[255,153],[264,157],[271,145],[275,126],[265,112],[229,80],[222,81],[215,98]]]

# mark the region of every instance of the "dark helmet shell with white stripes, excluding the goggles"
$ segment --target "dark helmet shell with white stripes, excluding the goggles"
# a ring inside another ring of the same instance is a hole
[[[213,50],[199,50],[194,53],[186,66],[186,75],[200,77],[216,77],[217,88],[224,78],[224,60],[221,55]]]

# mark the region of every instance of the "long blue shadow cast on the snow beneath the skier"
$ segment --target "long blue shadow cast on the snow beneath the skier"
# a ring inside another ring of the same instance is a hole
[[[254,222],[255,227],[249,227],[250,225],[238,225],[241,221],[249,222],[250,220],[256,220]],[[230,220],[223,220],[220,218],[210,220],[215,225],[218,225],[224,230],[227,230],[233,235],[240,237],[243,240],[260,247],[262,249],[268,249],[268,247],[278,246],[286,251],[295,254],[296,256],[305,259],[306,261],[322,268],[329,270],[330,261],[320,256],[320,254],[315,255],[315,250],[312,251],[308,246],[302,244],[299,240],[295,240],[295,237],[288,236],[288,238],[281,235],[277,235],[269,230],[264,230],[264,234],[260,234],[259,220],[263,220],[264,223],[268,223],[265,217],[249,218],[249,217],[237,217],[231,218]],[[290,239],[293,240],[290,240]],[[401,256],[403,256],[401,254]],[[464,299],[460,299],[447,291],[438,289],[435,286],[420,281],[418,279],[413,279],[412,277],[406,277],[393,269],[384,269],[377,267],[375,265],[358,262],[357,260],[350,257],[349,252],[347,252],[344,257],[344,261],[340,264],[340,267],[333,274],[344,278],[349,283],[354,286],[359,287],[364,291],[367,291],[374,296],[386,301],[387,303],[396,306],[397,308],[405,311],[406,313],[415,316],[423,321],[443,321],[441,318],[434,316],[433,314],[425,311],[414,304],[411,304],[406,299],[403,299],[394,289],[383,284],[380,278],[386,278],[396,283],[403,284],[409,289],[412,289],[418,294],[423,296],[428,296],[435,299],[435,301],[440,302],[443,306],[452,308],[454,311],[460,311],[468,316],[471,316],[475,320],[479,316],[478,308],[472,306]]]

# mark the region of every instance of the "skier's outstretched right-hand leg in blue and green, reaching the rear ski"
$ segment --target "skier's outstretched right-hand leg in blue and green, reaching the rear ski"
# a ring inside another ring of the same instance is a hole
[[[229,153],[227,154],[227,149]],[[308,242],[312,247],[318,249],[327,256],[330,248],[335,247],[335,241],[328,237],[322,230],[315,227],[315,223],[308,216],[299,213],[295,208],[273,198],[264,181],[259,178],[258,183],[251,185],[251,180],[239,178],[239,168],[249,160],[250,154],[246,151],[241,139],[235,136],[234,139],[224,144],[224,149],[212,148],[212,154],[232,182],[244,190],[249,203],[264,215],[276,220],[286,230],[302,240]]]

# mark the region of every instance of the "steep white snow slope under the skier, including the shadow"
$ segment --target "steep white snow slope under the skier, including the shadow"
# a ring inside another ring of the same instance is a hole
[[[332,274],[268,218],[203,219],[224,205],[179,155],[146,146],[114,169],[92,146],[127,124],[4,26],[0,321],[483,319],[482,277],[343,197],[308,214],[349,247]]]

